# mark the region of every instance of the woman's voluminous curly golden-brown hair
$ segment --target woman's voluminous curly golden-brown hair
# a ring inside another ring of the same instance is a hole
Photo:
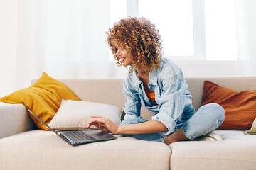
[[[117,57],[117,46],[124,47],[134,56],[129,73],[134,68],[139,76],[142,72],[159,69],[161,62],[161,36],[155,25],[146,18],[127,17],[114,24],[107,32],[107,43],[114,54],[116,63],[121,66]]]

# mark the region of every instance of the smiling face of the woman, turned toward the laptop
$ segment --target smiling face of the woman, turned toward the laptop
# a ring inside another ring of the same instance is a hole
[[[119,61],[122,62],[122,65],[124,67],[132,65],[132,60],[134,59],[134,56],[132,54],[129,54],[129,52],[127,52],[124,47],[117,47],[116,55],[119,58]]]

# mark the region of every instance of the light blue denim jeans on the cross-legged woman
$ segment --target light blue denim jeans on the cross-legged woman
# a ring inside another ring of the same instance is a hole
[[[193,114],[191,118],[187,120],[182,120],[177,122],[178,127],[175,128],[175,131],[183,128],[184,135],[189,139],[193,140],[196,137],[206,135],[208,132],[212,132],[218,128],[224,120],[224,109],[217,103],[209,103],[201,108],[198,108],[198,111]],[[144,123],[148,120],[139,118],[127,118],[120,123],[120,125],[130,125],[136,123]],[[172,132],[171,134],[173,134]],[[148,134],[139,134],[139,135],[122,135],[124,137],[134,137],[138,140],[148,140],[148,141],[157,141],[164,142],[165,135],[164,132],[155,132]]]

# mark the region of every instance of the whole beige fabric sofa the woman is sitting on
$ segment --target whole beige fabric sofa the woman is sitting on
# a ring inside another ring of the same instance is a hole
[[[256,77],[186,78],[197,110],[203,83],[235,91],[255,90]],[[32,81],[32,84],[36,80]],[[122,79],[60,79],[82,101],[124,107]],[[142,107],[142,117],[153,113]],[[0,169],[256,169],[256,135],[245,130],[215,130],[223,140],[183,141],[167,146],[132,137],[71,146],[51,131],[40,130],[21,104],[0,103]]]

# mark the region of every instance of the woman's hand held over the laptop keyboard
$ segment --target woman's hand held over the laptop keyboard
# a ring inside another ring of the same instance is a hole
[[[119,134],[119,125],[114,124],[110,119],[102,116],[91,116],[91,118],[94,119],[88,123],[86,128],[90,128],[90,126],[95,125],[103,132],[113,132],[114,134]]]

